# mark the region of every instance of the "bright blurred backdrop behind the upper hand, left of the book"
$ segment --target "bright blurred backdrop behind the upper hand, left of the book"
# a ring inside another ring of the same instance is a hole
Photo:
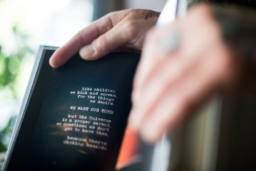
[[[0,152],[7,150],[39,45],[62,46],[79,30],[111,11],[161,11],[164,2],[0,0]]]

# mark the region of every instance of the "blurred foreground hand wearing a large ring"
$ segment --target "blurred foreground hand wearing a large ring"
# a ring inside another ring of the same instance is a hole
[[[166,49],[173,36],[176,49]],[[191,9],[186,18],[148,32],[134,81],[130,126],[147,142],[157,141],[215,90],[233,85],[237,70],[211,8]]]

